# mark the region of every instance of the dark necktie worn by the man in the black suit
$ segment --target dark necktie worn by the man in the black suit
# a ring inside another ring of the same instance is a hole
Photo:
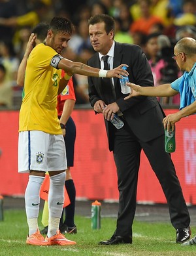
[[[110,68],[108,66],[108,57],[109,57],[108,55],[102,56],[102,60],[104,62],[104,69],[105,70],[110,70]],[[102,84],[103,84],[104,92],[106,94],[109,94],[110,98],[112,98],[111,102],[114,102],[114,99],[116,98],[116,96],[115,96],[114,87],[112,85],[112,79],[103,77],[102,78]],[[108,102],[108,103],[110,103],[110,102]]]

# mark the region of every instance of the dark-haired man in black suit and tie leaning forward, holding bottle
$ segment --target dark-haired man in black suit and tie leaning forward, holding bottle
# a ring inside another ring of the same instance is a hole
[[[95,15],[89,20],[91,45],[97,52],[88,65],[104,68],[103,56],[111,68],[121,63],[127,64],[129,81],[141,86],[154,84],[152,72],[145,54],[138,45],[122,44],[114,41],[115,24],[106,14]],[[182,194],[182,188],[171,160],[165,152],[163,117],[164,112],[157,99],[138,96],[124,100],[119,79],[88,77],[90,103],[95,114],[105,117],[106,133],[110,151],[113,151],[118,175],[120,193],[116,230],[109,240],[101,245],[131,244],[132,224],[135,216],[137,181],[140,152],[144,150],[152,169],[159,179],[167,203],[171,223],[176,229],[176,243],[190,238],[190,218]],[[116,129],[110,119],[114,113],[123,120],[121,129]]]

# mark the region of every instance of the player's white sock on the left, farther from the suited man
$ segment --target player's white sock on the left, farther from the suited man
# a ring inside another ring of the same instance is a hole
[[[29,182],[25,190],[25,209],[27,215],[27,223],[29,226],[29,236],[37,232],[37,218],[39,215],[39,192],[44,177],[29,175]]]

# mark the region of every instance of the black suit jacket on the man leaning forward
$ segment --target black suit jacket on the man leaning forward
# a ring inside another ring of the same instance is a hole
[[[141,86],[154,86],[153,76],[150,65],[142,49],[138,45],[129,45],[115,42],[114,66],[127,64],[129,81]],[[88,65],[100,68],[99,54],[95,53]],[[97,100],[103,100],[106,104],[111,102],[112,95],[105,93],[101,85],[100,77],[88,77],[90,103],[93,107]],[[150,141],[163,135],[163,117],[165,116],[159,102],[155,97],[137,96],[124,100],[125,95],[121,93],[120,81],[114,77],[114,87],[116,91],[116,103],[120,107],[131,131],[139,140]],[[110,150],[113,149],[112,124],[105,120],[106,133]]]

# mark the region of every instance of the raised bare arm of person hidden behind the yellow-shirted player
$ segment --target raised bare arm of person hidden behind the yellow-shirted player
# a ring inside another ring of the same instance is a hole
[[[18,68],[17,81],[16,81],[17,85],[24,86],[25,69],[27,66],[27,59],[29,58],[29,54],[33,50],[35,39],[36,39],[35,34],[31,33],[31,35],[29,37],[29,41],[27,43],[24,57],[22,58],[22,62],[20,62],[20,66]]]

